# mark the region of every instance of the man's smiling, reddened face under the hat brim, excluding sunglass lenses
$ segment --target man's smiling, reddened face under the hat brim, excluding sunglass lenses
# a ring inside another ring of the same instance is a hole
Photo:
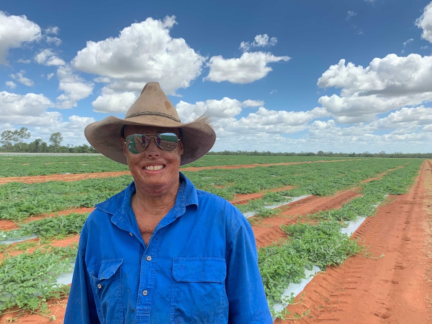
[[[128,125],[124,129],[125,138],[132,134],[155,135],[166,132],[174,133],[179,137],[177,128]],[[134,178],[137,191],[151,195],[163,195],[173,186],[177,190],[180,158],[183,154],[183,145],[180,141],[174,151],[166,152],[156,144],[153,137],[150,137],[150,142],[143,152],[133,154],[129,152],[126,144],[123,144],[123,154]]]

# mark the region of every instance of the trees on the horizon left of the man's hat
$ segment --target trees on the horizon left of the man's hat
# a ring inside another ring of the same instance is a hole
[[[30,131],[26,127],[21,127],[20,130],[5,130],[0,137],[2,147],[1,152],[23,152],[23,153],[97,153],[97,151],[89,145],[81,146],[62,146],[62,133],[56,132],[51,134],[49,143],[47,144],[41,138],[37,138],[31,143],[26,143],[25,140],[31,137]]]

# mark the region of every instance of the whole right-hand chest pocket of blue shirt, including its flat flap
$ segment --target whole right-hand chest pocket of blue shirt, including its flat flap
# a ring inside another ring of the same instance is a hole
[[[228,318],[224,258],[173,258],[171,323],[223,323]]]

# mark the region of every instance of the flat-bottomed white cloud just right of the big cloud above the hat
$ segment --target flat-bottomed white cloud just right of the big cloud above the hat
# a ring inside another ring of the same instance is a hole
[[[260,80],[272,70],[269,63],[289,61],[288,56],[274,56],[271,53],[243,53],[240,58],[224,59],[222,56],[210,58],[207,66],[210,68],[204,80],[213,82],[228,81],[245,84]]]

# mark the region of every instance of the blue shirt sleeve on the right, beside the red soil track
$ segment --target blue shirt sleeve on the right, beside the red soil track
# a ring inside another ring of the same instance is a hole
[[[226,259],[228,323],[273,323],[258,268],[255,236],[243,215],[227,236]]]

